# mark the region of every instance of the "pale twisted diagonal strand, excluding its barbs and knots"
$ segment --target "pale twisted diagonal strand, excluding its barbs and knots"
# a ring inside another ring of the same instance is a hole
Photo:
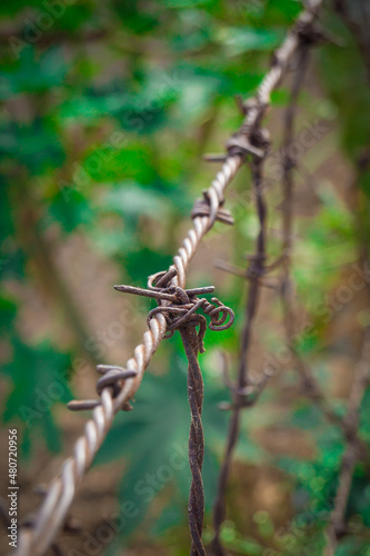
[[[320,4],[321,0],[313,0],[302,12],[298,22],[309,23],[313,21]],[[259,103],[248,110],[247,118],[239,130],[240,135],[246,135],[246,129],[252,128],[262,118],[270,103],[270,95],[278,86],[298,43],[297,34],[292,30],[280,49],[278,49],[276,53],[277,61],[259,87],[257,95]],[[177,275],[172,278],[173,285],[184,287],[189,264],[204,235],[212,228],[217,212],[223,203],[224,190],[243,163],[247,153],[248,151],[244,150],[233,151],[229,149],[229,156],[224,159],[220,171],[207,191],[210,215],[197,216],[193,219],[192,228],[188,231],[182,246],[173,257],[172,268],[177,270]],[[144,370],[166,331],[167,321],[164,315],[157,312],[149,322],[149,330],[144,332],[142,342],[136,347],[133,357],[126,365],[126,368],[129,371],[134,371],[136,376],[127,378],[122,383],[122,388],[114,398],[110,389],[102,390],[100,396],[101,405],[93,409],[92,417],[86,424],[81,437],[76,441],[73,455],[64,461],[61,474],[51,481],[49,492],[36,516],[34,525],[20,528],[16,549],[17,556],[41,556],[52,543],[62,526],[83,475],[89,469],[96,453],[106,438],[114,416],[137,393]]]

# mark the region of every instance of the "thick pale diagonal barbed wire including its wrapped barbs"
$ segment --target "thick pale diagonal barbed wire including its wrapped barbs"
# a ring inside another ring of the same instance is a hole
[[[222,156],[222,167],[210,188],[203,193],[203,199],[196,202],[192,212],[192,228],[188,231],[181,247],[173,257],[173,264],[168,271],[171,276],[171,287],[180,287],[184,290],[190,261],[203,237],[213,227],[216,220],[231,224],[231,215],[223,209],[226,188],[246,161],[247,155],[252,155],[254,162],[259,157],[263,158],[263,150],[260,149],[260,146],[256,147],[254,141],[251,140],[251,131],[259,128],[260,121],[270,106],[270,95],[278,87],[292,54],[299,47],[302,32],[307,32],[316,20],[321,2],[322,0],[312,0],[307,3],[293,29],[288,33],[282,46],[276,51],[271,68],[262,80],[257,97],[252,101],[242,105],[243,112],[246,113],[244,121],[239,131],[228,141],[228,153],[226,157]],[[162,277],[168,275],[168,272],[162,274]],[[148,286],[150,287],[151,284],[152,278],[149,279]],[[157,282],[158,286],[159,284]],[[153,292],[153,290],[151,291]],[[173,296],[174,294],[164,292],[164,295]],[[77,440],[73,455],[64,461],[61,474],[50,484],[44,502],[34,516],[32,525],[20,528],[18,548],[16,550],[18,556],[41,556],[52,544],[62,527],[76,492],[86,471],[89,469],[96,453],[106,438],[114,416],[121,409],[129,410],[131,408],[129,403],[138,391],[144,370],[169,328],[167,317],[171,311],[167,308],[166,301],[173,300],[173,297],[167,300],[163,299],[163,306],[160,306],[156,309],[156,312],[150,315],[148,330],[144,332],[141,344],[136,347],[133,357],[127,361],[124,368],[118,366],[98,367],[98,370],[103,374],[103,377],[98,381],[99,399],[78,401],[70,405],[72,409],[92,409],[92,417],[88,420],[83,434]],[[204,305],[204,301],[202,304]],[[184,316],[183,310],[190,311],[193,307],[177,307],[172,311],[172,315],[173,312],[178,312],[178,309]],[[209,306],[208,309],[210,309]],[[181,316],[179,318],[181,319]],[[189,330],[186,334],[190,334]],[[193,334],[193,330],[191,334]],[[190,337],[187,337],[184,346],[188,339],[190,341]],[[191,350],[187,355],[190,356]],[[193,400],[191,400],[192,404]],[[196,406],[193,408],[193,419],[197,418],[197,411],[200,414],[199,400],[196,400],[196,405],[197,408]],[[199,467],[201,467],[200,460],[198,460],[198,469]],[[198,473],[198,470],[194,470],[194,473]],[[201,536],[199,519],[196,528]],[[197,548],[193,545],[192,554],[197,554],[194,550],[202,554],[202,552],[199,552],[201,550],[200,546]]]

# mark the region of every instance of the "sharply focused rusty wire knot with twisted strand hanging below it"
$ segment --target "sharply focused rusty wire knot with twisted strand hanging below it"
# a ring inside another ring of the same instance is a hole
[[[206,332],[206,318],[196,311],[202,309],[211,317],[209,328],[212,330],[226,330],[234,321],[233,311],[226,307],[216,297],[212,304],[206,298],[198,298],[197,294],[209,294],[214,290],[213,286],[197,289],[182,289],[179,286],[171,286],[171,279],[176,276],[170,272],[158,272],[150,276],[148,287],[131,288],[118,286],[117,289],[136,295],[152,296],[159,306],[148,315],[148,321],[159,311],[164,314],[167,329],[170,332],[179,330],[188,358],[188,398],[191,411],[191,426],[189,436],[189,464],[191,470],[191,487],[189,495],[189,528],[191,534],[191,555],[206,556],[202,543],[202,530],[204,519],[204,492],[202,481],[202,465],[204,458],[204,436],[201,421],[203,405],[203,379],[198,363],[198,353],[204,351],[203,337]],[[168,305],[169,301],[171,305]],[[167,304],[167,305],[162,305]],[[197,334],[196,327],[199,327]],[[172,335],[171,334],[171,335]]]

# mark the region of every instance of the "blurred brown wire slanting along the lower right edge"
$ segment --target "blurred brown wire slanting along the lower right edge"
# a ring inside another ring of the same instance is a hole
[[[362,398],[370,381],[370,327],[364,330],[362,353],[354,370],[351,393],[348,400],[346,423],[351,435],[347,440],[347,447],[338,478],[338,488],[333,508],[327,529],[326,556],[334,556],[338,538],[346,533],[344,514],[348,497],[351,489],[352,476],[357,461],[361,458],[358,443],[359,413]]]

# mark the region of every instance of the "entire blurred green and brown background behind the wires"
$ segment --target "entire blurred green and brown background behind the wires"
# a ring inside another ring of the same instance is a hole
[[[349,10],[344,19],[340,7]],[[322,10],[332,41],[311,58],[293,147],[298,347],[338,415],[369,324],[367,9],[348,1]],[[146,329],[152,302],[113,285],[144,287],[148,275],[171,264],[193,200],[218,168],[202,155],[223,151],[242,118],[233,97],[253,95],[300,10],[294,0],[1,2],[0,476],[8,473],[8,428],[17,427],[21,515],[40,504],[36,487],[59,473],[82,430],[87,415],[69,413],[66,403],[94,397],[94,365],[124,364]],[[290,82],[291,72],[267,119],[271,261],[281,252]],[[206,540],[229,419],[218,407],[229,400],[219,350],[233,371],[248,291],[246,280],[214,261],[247,267],[258,230],[250,187],[246,167],[228,196],[236,226],[216,226],[188,281],[213,284],[237,316],[233,328],[207,332],[200,356]],[[264,289],[251,354],[256,377],[282,353],[281,320],[277,290]],[[279,369],[243,413],[222,540],[232,554],[319,556],[346,443],[307,399],[291,364],[282,358]],[[133,411],[118,416],[98,454],[71,510],[81,530],[60,542],[66,554],[188,554],[186,374],[176,335],[160,346]],[[370,440],[367,400],[360,430]],[[368,474],[356,467],[349,534],[338,555],[370,554]],[[124,500],[138,512],[108,543],[99,527]],[[1,536],[6,550],[4,530]]]

